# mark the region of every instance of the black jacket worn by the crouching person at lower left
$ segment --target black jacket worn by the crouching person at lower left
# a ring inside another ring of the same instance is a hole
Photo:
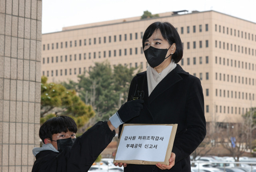
[[[114,136],[107,122],[99,121],[61,153],[44,150],[36,154],[32,172],[87,172]]]

